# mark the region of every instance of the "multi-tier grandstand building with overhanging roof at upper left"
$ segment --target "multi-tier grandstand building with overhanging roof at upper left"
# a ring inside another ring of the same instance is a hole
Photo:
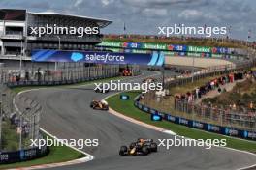
[[[102,41],[100,29],[112,21],[88,16],[57,14],[51,12],[31,13],[26,10],[0,10],[0,60],[30,60],[33,49],[92,50],[96,43]],[[98,34],[42,35],[31,34],[31,27],[98,27]]]

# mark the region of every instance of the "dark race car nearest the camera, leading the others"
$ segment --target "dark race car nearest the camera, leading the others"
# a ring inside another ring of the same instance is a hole
[[[146,156],[152,152],[157,152],[157,144],[153,139],[138,139],[130,144],[129,147],[121,146],[120,156]]]

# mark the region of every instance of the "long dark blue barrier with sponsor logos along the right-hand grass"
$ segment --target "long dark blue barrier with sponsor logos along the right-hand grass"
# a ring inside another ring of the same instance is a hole
[[[158,114],[162,117],[163,120],[166,120],[171,123],[175,123],[178,125],[186,126],[189,128],[197,128],[209,132],[214,132],[217,134],[222,134],[226,136],[238,137],[247,140],[256,141],[256,131],[252,130],[243,130],[239,128],[231,128],[231,127],[224,127],[218,126],[213,124],[208,124],[200,121],[190,120],[182,117],[173,116],[170,113],[160,112],[156,109],[150,108],[144,104],[140,103],[140,96],[137,97],[134,101],[135,107],[144,111],[147,114]]]

